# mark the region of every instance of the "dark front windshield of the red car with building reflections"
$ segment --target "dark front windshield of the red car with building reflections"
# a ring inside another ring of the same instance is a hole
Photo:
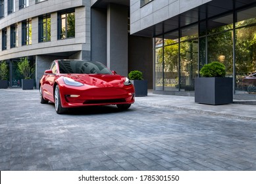
[[[112,74],[100,62],[86,60],[58,60],[61,74]]]

